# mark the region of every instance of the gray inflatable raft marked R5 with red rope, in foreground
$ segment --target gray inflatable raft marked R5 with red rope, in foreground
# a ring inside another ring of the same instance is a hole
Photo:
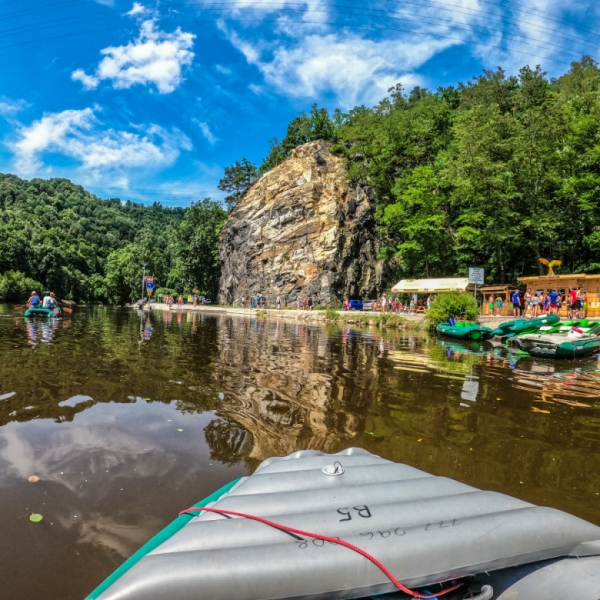
[[[339,538],[409,588],[435,592],[435,584],[462,580],[490,584],[502,600],[600,599],[599,527],[358,448],[270,458],[197,506]],[[150,540],[88,600],[341,599],[396,589],[347,547],[195,511]],[[472,596],[447,596],[463,597]]]

